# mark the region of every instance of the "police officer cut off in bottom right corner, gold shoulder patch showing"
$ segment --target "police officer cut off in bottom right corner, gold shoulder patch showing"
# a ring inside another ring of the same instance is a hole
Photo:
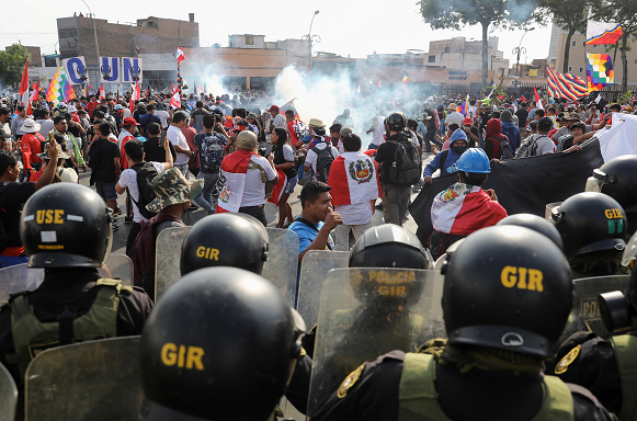
[[[577,332],[556,354],[555,374],[581,385],[621,421],[635,420],[637,413],[637,266],[633,268],[626,296],[621,292],[599,298],[606,329],[617,335],[603,339],[588,331]],[[626,333],[626,334],[622,334]]]

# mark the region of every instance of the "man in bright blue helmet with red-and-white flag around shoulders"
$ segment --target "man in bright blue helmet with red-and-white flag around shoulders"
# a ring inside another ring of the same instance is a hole
[[[452,166],[458,182],[440,192],[431,206],[433,232],[429,250],[440,258],[457,240],[481,228],[490,227],[507,217],[491,189],[480,187],[491,172],[489,158],[482,149],[471,148]]]

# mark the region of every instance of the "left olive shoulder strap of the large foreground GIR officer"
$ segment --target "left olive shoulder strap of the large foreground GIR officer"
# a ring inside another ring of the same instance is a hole
[[[398,392],[398,421],[450,421],[437,402],[435,360],[430,354],[405,354]]]

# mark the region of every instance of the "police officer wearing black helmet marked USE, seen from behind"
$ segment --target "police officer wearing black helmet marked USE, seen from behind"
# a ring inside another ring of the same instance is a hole
[[[104,201],[79,184],[53,184],[24,205],[20,236],[29,268],[44,268],[45,275],[0,309],[0,362],[19,385],[48,348],[141,333],[150,298],[98,273],[110,253],[111,224]]]

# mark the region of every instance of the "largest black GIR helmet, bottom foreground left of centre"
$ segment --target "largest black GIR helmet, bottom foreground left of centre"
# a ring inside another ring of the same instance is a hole
[[[161,297],[141,334],[149,400],[143,418],[266,420],[300,355],[304,330],[276,287],[254,273],[220,266],[189,273]]]

